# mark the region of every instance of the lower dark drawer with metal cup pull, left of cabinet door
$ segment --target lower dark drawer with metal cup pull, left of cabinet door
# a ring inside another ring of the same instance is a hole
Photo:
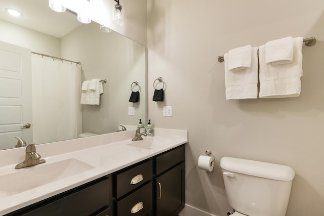
[[[150,215],[153,211],[152,182],[117,202],[117,216]]]

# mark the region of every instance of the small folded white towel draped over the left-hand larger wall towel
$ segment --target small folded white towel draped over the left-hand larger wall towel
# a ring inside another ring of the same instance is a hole
[[[251,45],[239,47],[228,52],[228,70],[242,71],[251,67]]]

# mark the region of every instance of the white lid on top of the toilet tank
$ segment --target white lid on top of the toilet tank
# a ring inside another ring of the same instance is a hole
[[[234,157],[223,157],[221,167],[240,174],[278,181],[292,181],[295,177],[295,171],[290,166]]]

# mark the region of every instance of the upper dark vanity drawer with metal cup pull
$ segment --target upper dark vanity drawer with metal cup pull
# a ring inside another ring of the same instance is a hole
[[[143,185],[153,177],[153,160],[133,166],[116,174],[116,198]]]

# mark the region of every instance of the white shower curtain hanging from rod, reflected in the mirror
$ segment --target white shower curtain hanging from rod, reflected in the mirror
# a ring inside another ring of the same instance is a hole
[[[33,143],[77,138],[82,131],[81,66],[32,54]]]

